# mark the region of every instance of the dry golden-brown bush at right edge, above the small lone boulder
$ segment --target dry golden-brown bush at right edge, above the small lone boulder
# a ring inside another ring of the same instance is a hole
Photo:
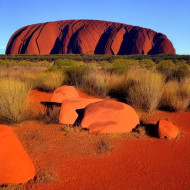
[[[169,111],[184,111],[190,105],[190,78],[169,81],[161,98],[160,107]]]

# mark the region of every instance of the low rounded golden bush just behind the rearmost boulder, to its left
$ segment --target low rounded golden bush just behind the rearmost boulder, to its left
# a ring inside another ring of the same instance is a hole
[[[65,80],[65,75],[60,71],[40,73],[35,80],[35,88],[42,91],[54,91],[60,87]]]

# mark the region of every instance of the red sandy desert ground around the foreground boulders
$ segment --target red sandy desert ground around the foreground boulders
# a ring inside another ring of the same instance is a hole
[[[33,91],[30,96],[39,106],[50,95]],[[159,119],[174,122],[181,131],[180,138],[160,140],[113,135],[111,140],[108,138],[113,151],[98,154],[91,140],[106,135],[67,132],[61,130],[62,125],[37,121],[15,125],[13,129],[36,171],[53,176],[49,183],[35,184],[35,189],[190,189],[190,112],[156,111],[139,115],[149,124]]]

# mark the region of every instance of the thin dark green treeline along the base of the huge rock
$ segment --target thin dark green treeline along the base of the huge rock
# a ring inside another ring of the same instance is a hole
[[[177,60],[185,60],[187,64],[190,64],[190,55],[174,55],[174,54],[159,54],[159,55],[91,55],[91,54],[56,54],[56,55],[0,55],[0,59],[8,60],[28,60],[32,62],[38,61],[55,61],[57,59],[71,59],[75,61],[108,61],[112,62],[115,59],[152,59],[155,63],[159,63],[162,60],[172,60],[174,63]]]

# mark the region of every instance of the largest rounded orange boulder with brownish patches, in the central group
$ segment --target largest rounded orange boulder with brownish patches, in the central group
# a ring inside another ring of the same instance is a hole
[[[115,100],[89,104],[81,122],[82,128],[93,133],[126,133],[139,124],[135,110]]]

